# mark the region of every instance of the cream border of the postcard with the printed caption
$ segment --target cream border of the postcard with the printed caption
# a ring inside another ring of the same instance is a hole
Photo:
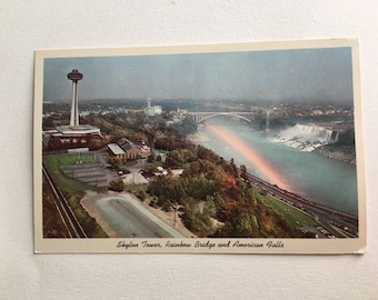
[[[142,56],[162,53],[205,53],[251,50],[351,47],[355,104],[355,131],[358,179],[359,237],[355,239],[46,239],[42,236],[42,147],[41,116],[43,59],[57,57]],[[103,49],[37,50],[34,69],[33,198],[36,253],[269,253],[342,254],[367,251],[365,160],[358,42],[355,39],[247,42],[201,46],[162,46]],[[177,244],[175,244],[177,243]],[[186,246],[187,244],[187,246]],[[190,246],[188,246],[190,244]]]

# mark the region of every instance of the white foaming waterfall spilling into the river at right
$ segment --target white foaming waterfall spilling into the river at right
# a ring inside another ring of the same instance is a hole
[[[281,130],[273,140],[304,151],[312,151],[322,144],[337,142],[339,133],[316,124],[297,123]]]

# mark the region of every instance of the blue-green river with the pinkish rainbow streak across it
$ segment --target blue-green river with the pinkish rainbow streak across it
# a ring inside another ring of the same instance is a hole
[[[308,200],[358,214],[356,164],[275,142],[238,119],[213,118],[199,127],[195,142],[248,172]]]

